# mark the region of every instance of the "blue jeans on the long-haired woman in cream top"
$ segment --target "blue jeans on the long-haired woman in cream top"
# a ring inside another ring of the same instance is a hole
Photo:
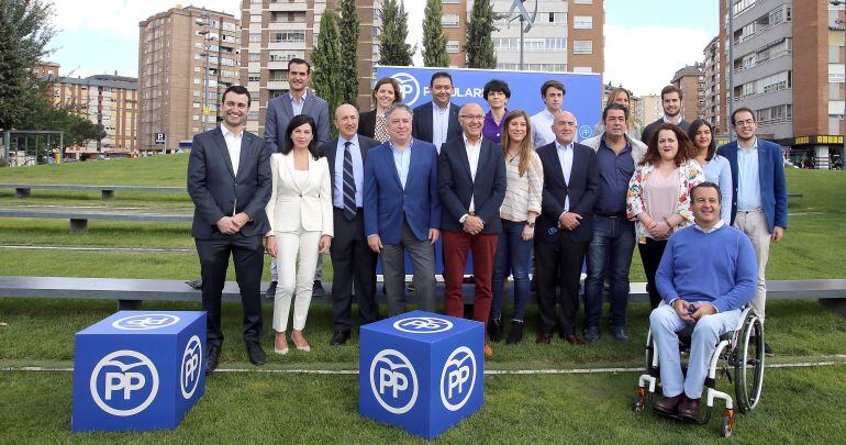
[[[512,320],[523,321],[523,314],[528,303],[528,255],[532,253],[532,241],[523,241],[523,227],[526,223],[502,220],[502,233],[497,243],[497,255],[493,259],[493,276],[491,277],[490,318],[499,320],[502,316],[502,293],[509,271],[514,276],[514,314]]]

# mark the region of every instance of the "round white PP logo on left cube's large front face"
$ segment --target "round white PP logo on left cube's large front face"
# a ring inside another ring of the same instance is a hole
[[[158,371],[144,354],[129,349],[115,351],[94,366],[90,388],[91,397],[103,411],[120,416],[134,415],[156,399]],[[136,391],[147,396],[133,394]]]

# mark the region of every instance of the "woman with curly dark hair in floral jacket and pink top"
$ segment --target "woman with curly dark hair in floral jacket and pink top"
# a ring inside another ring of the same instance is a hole
[[[661,124],[653,133],[641,164],[628,181],[626,213],[635,222],[637,249],[646,274],[653,309],[661,297],[655,272],[669,236],[693,221],[690,190],[705,180],[702,167],[690,158],[690,140],[674,124]]]

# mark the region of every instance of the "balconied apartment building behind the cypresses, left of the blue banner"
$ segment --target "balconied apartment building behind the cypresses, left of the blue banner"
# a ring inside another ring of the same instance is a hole
[[[288,92],[288,60],[310,60],[320,34],[320,20],[337,0],[242,0],[241,77],[253,96],[247,130],[264,133],[270,99]],[[374,64],[379,59],[379,0],[356,0],[358,36],[358,107],[370,108]]]

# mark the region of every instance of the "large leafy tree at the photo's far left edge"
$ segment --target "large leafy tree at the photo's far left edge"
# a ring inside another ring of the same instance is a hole
[[[32,74],[55,30],[49,0],[0,0],[0,130],[18,127],[36,99]]]

